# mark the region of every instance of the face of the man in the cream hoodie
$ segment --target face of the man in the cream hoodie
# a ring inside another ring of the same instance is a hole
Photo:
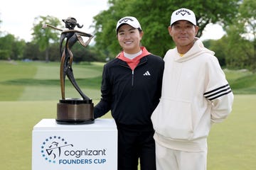
[[[176,21],[168,28],[177,47],[186,47],[188,50],[193,46],[193,40],[198,33],[198,26],[189,21]]]

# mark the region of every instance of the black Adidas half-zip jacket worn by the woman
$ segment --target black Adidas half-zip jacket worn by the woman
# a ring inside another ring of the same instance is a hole
[[[95,118],[111,110],[117,125],[151,127],[151,113],[161,96],[163,72],[164,60],[155,55],[142,57],[134,71],[118,58],[105,64],[102,98],[94,108]]]

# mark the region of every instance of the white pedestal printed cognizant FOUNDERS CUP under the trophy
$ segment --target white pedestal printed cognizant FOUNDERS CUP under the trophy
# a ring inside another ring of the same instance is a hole
[[[89,125],[58,125],[43,119],[33,127],[32,170],[116,170],[117,127],[113,119]]]

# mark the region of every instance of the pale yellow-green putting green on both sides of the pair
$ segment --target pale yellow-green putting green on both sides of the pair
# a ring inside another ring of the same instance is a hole
[[[213,125],[208,137],[208,170],[256,169],[256,115],[252,103],[256,103],[256,95],[236,95],[228,119]],[[43,118],[55,118],[56,101],[1,101],[0,108],[1,169],[31,169],[33,126]]]

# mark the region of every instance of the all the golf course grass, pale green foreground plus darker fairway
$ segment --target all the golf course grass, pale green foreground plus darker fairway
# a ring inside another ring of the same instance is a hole
[[[60,99],[58,62],[0,61],[1,165],[4,170],[31,169],[33,126],[55,118]],[[102,63],[73,64],[82,91],[100,100]],[[208,170],[256,169],[256,79],[247,71],[225,70],[235,94],[233,112],[213,125],[208,137]],[[66,96],[80,97],[66,79]],[[111,118],[110,113],[103,118]]]

